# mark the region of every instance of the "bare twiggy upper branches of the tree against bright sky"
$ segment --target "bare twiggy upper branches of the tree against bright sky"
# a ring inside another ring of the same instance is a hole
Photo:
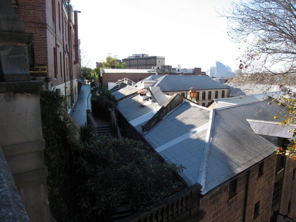
[[[295,73],[295,0],[233,2],[224,15],[231,39],[242,45],[240,69],[249,73]]]

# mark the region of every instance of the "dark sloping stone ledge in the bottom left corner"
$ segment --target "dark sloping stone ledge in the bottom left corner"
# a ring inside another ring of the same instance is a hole
[[[29,222],[0,147],[0,221]]]

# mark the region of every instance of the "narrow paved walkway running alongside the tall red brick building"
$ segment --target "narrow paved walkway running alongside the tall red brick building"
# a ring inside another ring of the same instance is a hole
[[[88,96],[91,92],[91,85],[86,84],[81,86],[80,94],[77,103],[72,111],[72,118],[78,125],[82,126],[87,122]],[[89,97],[89,109],[91,110],[91,97]]]

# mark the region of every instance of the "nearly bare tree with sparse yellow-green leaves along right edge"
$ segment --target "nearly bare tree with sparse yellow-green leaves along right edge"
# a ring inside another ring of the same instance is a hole
[[[241,0],[223,16],[230,38],[240,44],[239,69],[249,74],[239,83],[278,84],[281,89],[296,84],[296,0]],[[278,100],[289,111],[282,123],[295,124],[295,94]],[[296,160],[295,141],[278,153]]]

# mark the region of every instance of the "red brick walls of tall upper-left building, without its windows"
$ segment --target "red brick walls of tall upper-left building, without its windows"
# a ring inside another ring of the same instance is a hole
[[[65,80],[66,82],[70,81],[70,65],[72,64],[72,66],[74,66],[73,62],[69,63],[68,53],[63,52],[63,35],[65,45],[68,44],[68,51],[70,50],[70,45],[74,44],[73,27],[71,27],[72,42],[69,41],[68,13],[67,9],[64,8],[65,10],[62,10],[63,7],[65,6],[61,0],[18,0],[18,6],[14,8],[19,19],[25,23],[26,33],[33,34],[34,66],[30,67],[30,74],[35,77],[51,78],[53,87],[65,83]],[[53,16],[54,12],[56,13],[55,16]],[[55,20],[53,20],[54,18]],[[67,30],[65,30],[65,28]],[[54,47],[57,52],[57,78],[55,78],[54,74]],[[71,47],[71,49],[72,48],[73,47]],[[62,55],[62,67],[60,55]],[[67,65],[66,60],[68,60],[68,69],[64,67]],[[75,53],[72,53],[72,61],[74,60]],[[79,66],[79,64],[77,66]],[[67,70],[68,75],[66,73]],[[76,79],[78,75],[80,76],[80,73],[75,73],[75,70],[80,71],[79,67],[73,68],[73,79]],[[66,77],[64,79],[65,74]]]

